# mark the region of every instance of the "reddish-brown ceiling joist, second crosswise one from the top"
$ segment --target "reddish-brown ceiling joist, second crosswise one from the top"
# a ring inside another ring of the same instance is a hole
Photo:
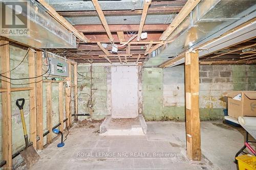
[[[133,11],[132,11],[133,12]],[[96,14],[97,15],[97,14]],[[77,31],[83,33],[104,33],[106,32],[102,25],[76,25]],[[140,25],[109,25],[111,32],[133,32],[138,31]],[[143,31],[165,31],[168,28],[167,24],[144,24]]]

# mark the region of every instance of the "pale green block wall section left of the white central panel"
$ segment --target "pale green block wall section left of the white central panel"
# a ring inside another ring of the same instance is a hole
[[[89,107],[87,107],[88,100],[90,96],[90,65],[88,64],[78,64],[77,70],[79,74],[85,76],[86,78],[78,75],[78,114],[90,113]],[[110,113],[109,105],[107,99],[107,93],[110,91],[110,87],[107,87],[107,82],[111,81],[110,66],[93,65],[92,68],[92,88],[97,90],[92,90],[92,118],[102,119]],[[86,94],[87,93],[87,94]],[[108,105],[108,107],[107,107]],[[82,120],[86,117],[79,116]]]

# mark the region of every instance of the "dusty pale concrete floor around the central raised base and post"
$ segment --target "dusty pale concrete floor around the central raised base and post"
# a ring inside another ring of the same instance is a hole
[[[202,161],[189,161],[184,122],[147,122],[144,136],[99,136],[100,123],[75,125],[40,153],[31,169],[237,169],[244,131],[221,121],[201,122]],[[164,154],[165,155],[164,155]]]

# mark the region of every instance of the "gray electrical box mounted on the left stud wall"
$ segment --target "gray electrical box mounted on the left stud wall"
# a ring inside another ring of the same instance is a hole
[[[66,61],[58,60],[52,57],[49,57],[49,60],[51,64],[52,76],[69,77],[69,65]]]

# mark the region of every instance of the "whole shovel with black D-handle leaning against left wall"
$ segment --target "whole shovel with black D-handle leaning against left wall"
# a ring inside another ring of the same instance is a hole
[[[19,102],[22,102],[22,104],[19,105]],[[26,128],[26,123],[25,123],[25,118],[24,118],[24,112],[23,112],[23,106],[25,103],[25,99],[18,99],[16,101],[16,105],[19,108],[20,111],[20,117],[22,118],[22,126],[23,126],[23,132],[24,132],[24,138],[25,138],[25,143],[26,147],[25,149],[20,152],[20,155],[22,156],[23,160],[25,161],[26,165],[28,168],[30,168],[36,161],[40,159],[39,155],[35,151],[33,147],[33,143],[29,143],[28,139],[28,134],[27,134],[27,128]]]

